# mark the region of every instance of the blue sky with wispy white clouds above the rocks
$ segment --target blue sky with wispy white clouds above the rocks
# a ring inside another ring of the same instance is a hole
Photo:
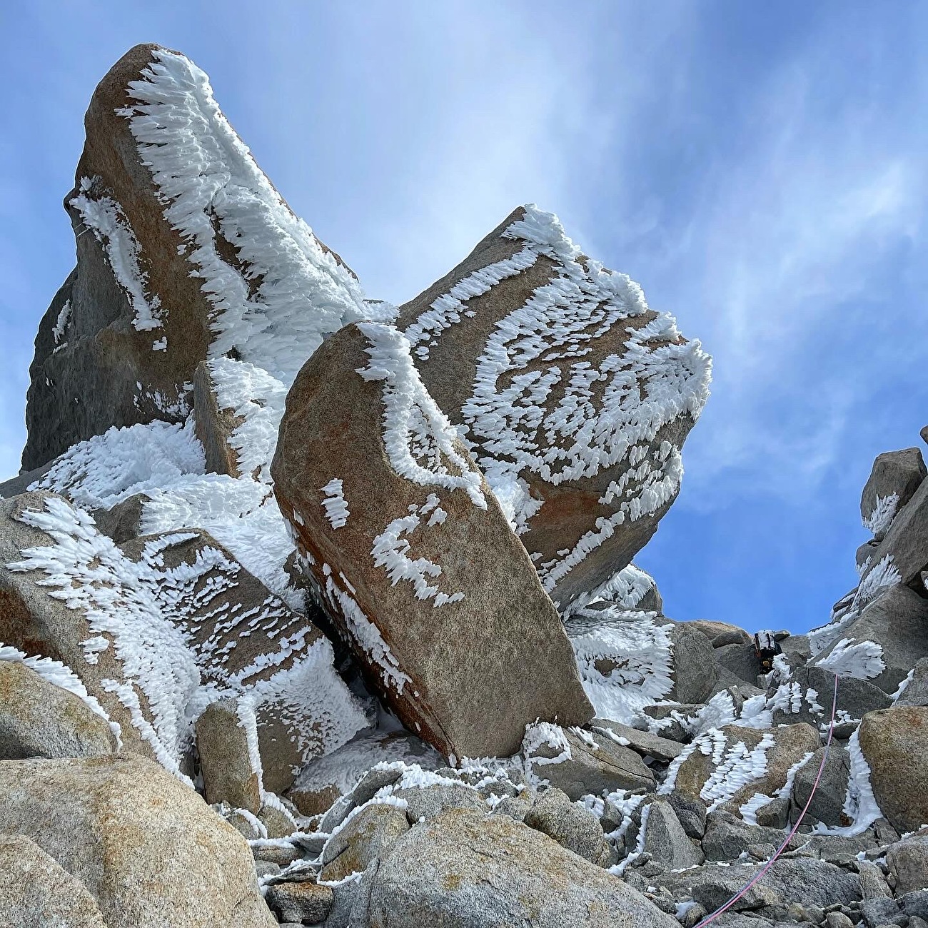
[[[928,423],[928,6],[587,0],[0,8],[0,472],[94,85],[193,58],[297,213],[403,302],[519,203],[715,357],[639,556],[677,619],[805,630],[854,586],[858,499]]]

